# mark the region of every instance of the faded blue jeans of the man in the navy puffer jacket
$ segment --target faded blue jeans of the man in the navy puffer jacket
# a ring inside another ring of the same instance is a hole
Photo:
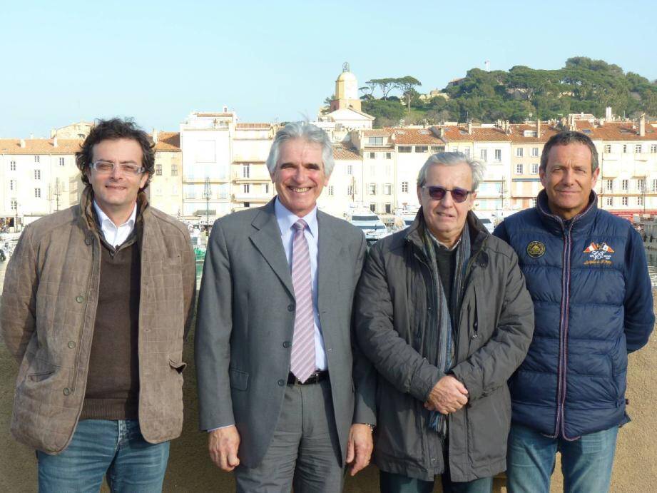
[[[569,442],[512,424],[506,452],[509,493],[549,493],[557,451],[561,452],[564,492],[608,492],[617,435],[615,426]]]

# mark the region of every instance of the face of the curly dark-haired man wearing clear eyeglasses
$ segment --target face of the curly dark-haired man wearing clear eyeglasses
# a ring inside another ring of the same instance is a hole
[[[98,207],[117,224],[116,220],[122,220],[124,216],[128,218],[132,213],[137,193],[148,181],[148,173],[131,176],[123,173],[116,164],[136,163],[141,166],[141,146],[132,139],[119,138],[98,142],[93,146],[92,154],[94,163],[109,161],[115,165],[111,173],[99,173],[89,166],[86,175]]]

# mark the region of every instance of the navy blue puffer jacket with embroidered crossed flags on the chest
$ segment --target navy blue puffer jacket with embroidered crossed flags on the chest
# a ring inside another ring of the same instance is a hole
[[[596,202],[591,192],[566,222],[543,190],[494,233],[516,250],[534,300],[534,339],[509,380],[512,420],[566,439],[626,421],[627,354],[655,321],[641,236]]]

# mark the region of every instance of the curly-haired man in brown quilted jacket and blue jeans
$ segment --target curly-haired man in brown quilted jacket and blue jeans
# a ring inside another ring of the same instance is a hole
[[[187,229],[148,205],[148,135],[99,121],[76,154],[81,203],[28,225],[6,270],[1,331],[19,362],[11,433],[39,491],[160,492],[183,424],[195,297]]]

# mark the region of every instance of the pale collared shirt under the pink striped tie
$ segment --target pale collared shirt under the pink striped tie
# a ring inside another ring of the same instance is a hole
[[[294,241],[292,225],[299,219],[305,220],[308,225],[304,230],[304,235],[308,243],[308,253],[310,254],[310,286],[312,289],[312,313],[315,324],[315,366],[317,370],[326,370],[326,350],[320,327],[320,315],[317,311],[317,253],[319,253],[318,241],[320,233],[317,225],[317,205],[315,205],[315,208],[310,213],[300,218],[295,213],[287,210],[285,205],[282,205],[280,200],[276,198],[274,213],[278,222],[278,228],[280,229],[280,239],[282,240],[283,248],[285,248],[285,258],[287,258],[287,264],[290,265],[290,272],[292,270],[292,243]]]

